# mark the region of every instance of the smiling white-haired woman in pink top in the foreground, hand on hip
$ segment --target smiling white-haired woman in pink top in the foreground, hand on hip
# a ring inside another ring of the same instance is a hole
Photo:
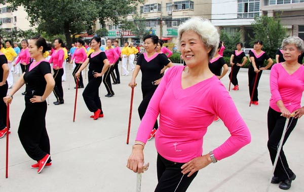
[[[143,148],[160,114],[155,191],[186,191],[200,169],[233,155],[251,140],[232,98],[208,67],[219,42],[216,28],[195,17],[179,26],[178,36],[187,66],[171,67],[164,75],[140,123],[127,163],[134,172],[143,172]],[[202,155],[203,137],[216,115],[230,137]]]

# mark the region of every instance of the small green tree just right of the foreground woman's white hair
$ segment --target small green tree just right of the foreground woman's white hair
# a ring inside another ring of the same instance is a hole
[[[236,44],[241,41],[242,31],[236,32],[234,35],[226,33],[224,30],[220,31],[220,41],[224,42],[225,50],[224,57],[230,57],[234,50],[236,50]]]

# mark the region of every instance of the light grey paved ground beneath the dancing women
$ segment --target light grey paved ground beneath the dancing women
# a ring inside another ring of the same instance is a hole
[[[120,63],[121,64],[121,63]],[[121,68],[121,67],[120,67]],[[127,86],[131,76],[122,76],[121,84],[113,85],[115,96],[104,97],[104,85],[100,98],[104,118],[93,121],[79,90],[76,120],[73,123],[75,90],[73,80],[63,82],[63,105],[55,106],[55,97],[50,96],[47,112],[47,130],[51,141],[52,167],[41,174],[30,169],[34,163],[25,153],[18,138],[17,129],[24,109],[21,88],[11,105],[12,133],[10,134],[9,178],[5,178],[6,139],[0,139],[0,191],[135,191],[136,174],[126,168],[138,125],[137,107],[141,101],[140,74],[135,88],[130,144],[126,144],[131,89]],[[270,89],[269,74],[263,73],[259,85],[259,106],[249,107],[248,78],[246,71],[239,72],[240,90],[231,91],[239,112],[247,123],[252,141],[238,153],[201,170],[188,191],[265,191],[272,166],[267,149],[267,110]],[[15,74],[15,80],[18,75]],[[71,83],[69,82],[71,81]],[[87,82],[87,79],[85,80]],[[229,87],[227,75],[222,80]],[[68,90],[68,87],[70,89]],[[185,117],[186,118],[186,117]],[[32,117],[33,121],[35,117]],[[303,120],[298,124],[284,146],[291,169],[296,174],[289,191],[303,191],[304,155]],[[30,129],[30,128],[29,128]],[[213,123],[204,137],[204,153],[219,146],[229,132],[221,121]],[[148,141],[144,150],[149,170],[142,175],[142,191],[154,191],[157,184],[154,140]],[[281,191],[272,184],[270,191]]]

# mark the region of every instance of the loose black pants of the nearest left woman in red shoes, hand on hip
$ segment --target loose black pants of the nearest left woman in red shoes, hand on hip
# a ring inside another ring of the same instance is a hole
[[[18,129],[19,139],[27,155],[35,161],[50,154],[46,129],[47,102],[25,103]],[[52,160],[50,159],[48,163]]]

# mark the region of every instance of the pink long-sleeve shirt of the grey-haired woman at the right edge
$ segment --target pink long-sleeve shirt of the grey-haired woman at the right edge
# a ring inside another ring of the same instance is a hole
[[[284,106],[290,111],[301,107],[301,98],[304,91],[304,66],[289,74],[282,63],[272,66],[270,72],[270,107],[280,112],[277,102],[282,100]]]

